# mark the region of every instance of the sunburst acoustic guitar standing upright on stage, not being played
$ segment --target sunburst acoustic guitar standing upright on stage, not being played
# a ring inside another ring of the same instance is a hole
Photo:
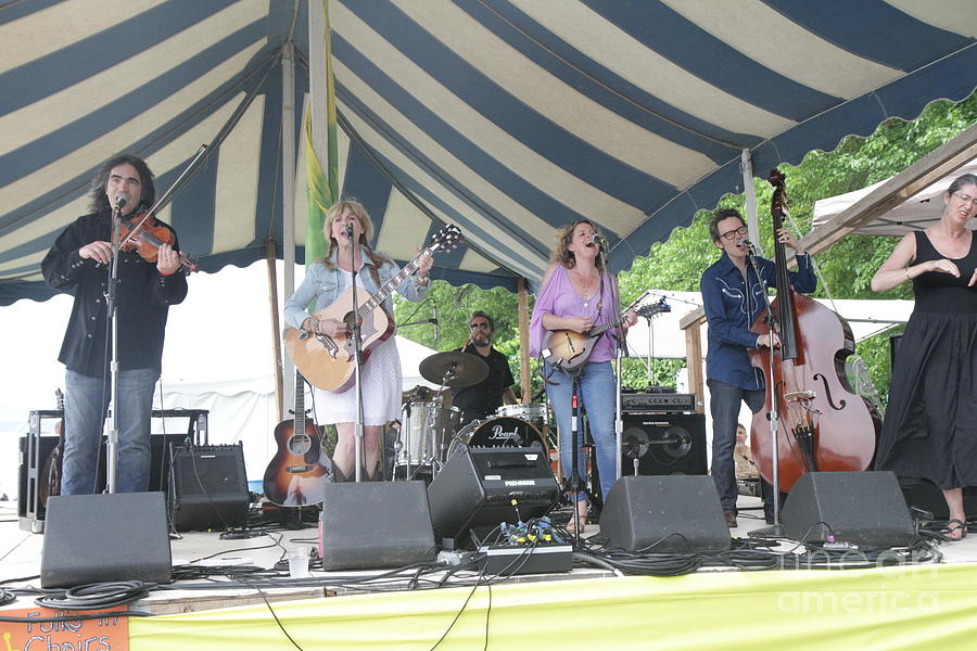
[[[278,451],[265,470],[265,497],[280,507],[322,501],[329,470],[321,462],[322,437],[305,417],[305,382],[295,372],[295,413],[275,427]]]

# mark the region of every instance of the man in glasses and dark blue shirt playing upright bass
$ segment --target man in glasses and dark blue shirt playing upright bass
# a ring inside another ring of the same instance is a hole
[[[702,275],[700,283],[702,307],[709,323],[706,383],[712,413],[712,481],[720,495],[726,524],[735,528],[737,489],[733,450],[739,406],[746,403],[757,413],[766,398],[763,373],[750,363],[747,350],[769,348],[771,345],[777,347],[781,342],[775,332],[757,335],[750,331],[766,304],[762,295],[764,285],[747,259],[750,244],[746,239],[747,227],[743,217],[732,208],[716,210],[709,224],[709,234],[716,248],[723,252],[722,257]],[[799,292],[813,292],[817,288],[817,279],[811,256],[786,228],[777,231],[777,241],[794,248],[797,255],[798,271],[790,273],[794,288]],[[766,286],[774,286],[776,265],[758,257],[757,266]],[[767,520],[771,518],[767,511]]]

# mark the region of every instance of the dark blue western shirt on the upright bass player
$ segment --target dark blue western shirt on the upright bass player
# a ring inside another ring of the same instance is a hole
[[[766,258],[757,258],[760,278],[766,286],[776,284],[777,266]],[[797,271],[791,271],[790,284],[804,294],[817,289],[817,278],[809,254],[797,256]],[[740,388],[763,388],[763,373],[750,365],[748,348],[757,347],[757,333],[750,327],[766,308],[763,285],[757,272],[747,266],[750,291],[746,291],[743,273],[723,253],[723,256],[702,275],[702,307],[709,322],[709,354],[706,358],[706,378],[719,380]]]

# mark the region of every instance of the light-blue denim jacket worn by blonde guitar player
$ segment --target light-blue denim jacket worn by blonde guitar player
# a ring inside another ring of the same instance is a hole
[[[302,285],[295,290],[295,293],[286,303],[284,319],[287,324],[296,329],[302,328],[302,321],[309,317],[306,308],[313,298],[316,299],[315,310],[318,311],[331,305],[345,291],[346,288],[342,280],[343,271],[339,268],[337,258],[338,252],[333,251],[329,259],[335,267],[334,269],[328,269],[322,263],[315,263],[306,268],[305,280],[302,281]],[[359,280],[366,288],[366,291],[364,292],[365,295],[359,297],[360,304],[380,289],[373,282],[373,273],[370,271],[372,266],[372,260],[364,255]],[[377,268],[380,276],[380,284],[386,284],[386,281],[396,276],[399,270],[401,268],[393,263],[380,265]],[[422,301],[428,295],[428,286],[418,284],[417,280],[410,276],[401,283],[397,288],[397,293],[408,301]],[[383,302],[383,307],[388,314],[393,316],[393,298],[391,296],[388,296],[386,301]]]

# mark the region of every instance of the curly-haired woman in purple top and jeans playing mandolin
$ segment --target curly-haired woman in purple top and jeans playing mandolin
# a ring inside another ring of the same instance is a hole
[[[530,354],[546,355],[547,340],[555,331],[569,330],[587,333],[595,326],[619,318],[617,284],[604,268],[600,257],[601,240],[587,220],[564,227],[557,235],[557,245],[550,256],[553,265],[543,277],[533,318],[530,323]],[[623,319],[623,336],[626,329],[637,321],[634,312]],[[618,478],[614,444],[614,372],[610,360],[614,358],[614,330],[601,334],[593,344],[589,357],[568,373],[562,368],[544,361],[546,395],[553,404],[560,433],[560,462],[563,475],[570,477],[573,445],[571,441],[571,411],[573,375],[576,375],[578,396],[587,410],[591,435],[597,446],[597,470],[600,473],[600,492],[604,499]],[[571,360],[572,362],[572,360]],[[576,473],[581,485],[586,482],[586,460],[581,452],[583,432],[578,434]],[[586,521],[587,501],[584,493],[574,496],[581,528]],[[576,520],[571,520],[571,529]]]

